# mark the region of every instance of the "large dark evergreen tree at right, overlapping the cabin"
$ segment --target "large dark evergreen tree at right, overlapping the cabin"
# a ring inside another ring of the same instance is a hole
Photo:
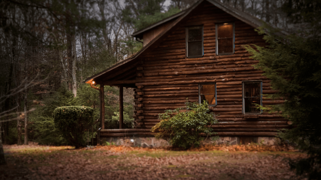
[[[281,105],[265,110],[282,112],[291,121],[291,129],[280,137],[291,141],[310,155],[307,159],[292,162],[298,174],[308,173],[309,179],[321,177],[321,2],[317,0],[290,0],[283,6],[293,23],[304,26],[304,31],[290,36],[280,35],[275,29],[260,28],[265,34],[267,48],[247,46],[252,58],[259,60],[257,69],[265,71],[272,88],[278,90],[272,98],[283,98]],[[313,17],[312,19],[310,17]],[[268,30],[264,30],[268,29]]]

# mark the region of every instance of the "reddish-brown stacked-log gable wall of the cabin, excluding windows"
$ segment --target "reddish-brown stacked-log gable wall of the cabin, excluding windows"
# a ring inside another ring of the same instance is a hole
[[[242,81],[262,80],[263,94],[275,93],[270,80],[262,71],[254,69],[258,61],[251,59],[243,45],[266,43],[253,27],[223,12],[208,2],[201,11],[191,12],[173,30],[161,38],[146,53],[137,66],[135,89],[135,128],[150,129],[160,120],[164,110],[198,101],[199,83],[216,83],[217,106],[212,111],[219,114],[218,125],[213,125],[219,135],[271,136],[275,130],[289,128],[288,121],[276,114],[242,114]],[[215,23],[235,23],[235,53],[215,54]],[[204,57],[186,58],[186,32],[189,25],[204,25]],[[282,103],[263,97],[263,106]]]

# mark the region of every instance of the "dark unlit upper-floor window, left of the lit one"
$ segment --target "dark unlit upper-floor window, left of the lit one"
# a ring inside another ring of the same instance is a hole
[[[188,27],[186,39],[187,57],[203,56],[203,26]]]

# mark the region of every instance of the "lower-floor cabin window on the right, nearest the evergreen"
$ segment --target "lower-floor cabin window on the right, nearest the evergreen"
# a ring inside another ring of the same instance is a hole
[[[262,81],[244,81],[242,86],[243,113],[261,114],[262,110],[256,104],[262,106]]]

